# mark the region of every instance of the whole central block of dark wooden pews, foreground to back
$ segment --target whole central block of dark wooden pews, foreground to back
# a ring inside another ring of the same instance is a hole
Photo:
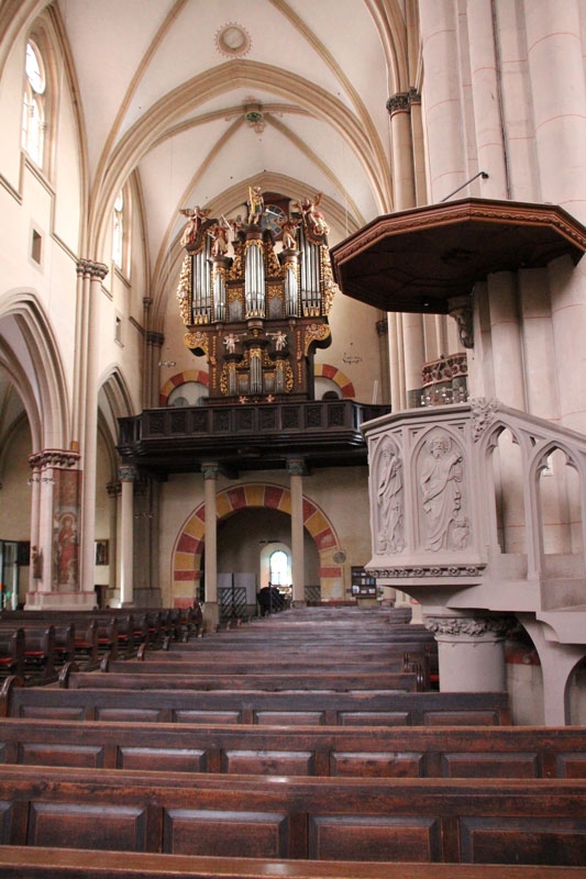
[[[296,608],[5,679],[2,876],[578,877],[577,727],[434,687],[391,608]],[[427,669],[427,670],[425,670]]]

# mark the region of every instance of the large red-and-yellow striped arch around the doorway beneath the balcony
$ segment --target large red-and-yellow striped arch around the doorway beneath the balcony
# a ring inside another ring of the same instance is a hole
[[[253,507],[278,510],[291,514],[291,493],[288,488],[263,482],[251,482],[220,491],[217,496],[218,521]],[[340,542],[320,508],[303,497],[303,526],[313,537],[319,553],[319,576],[322,594],[343,593],[343,570],[333,563]],[[173,601],[176,608],[189,607],[201,579],[201,554],[206,535],[206,510],[201,503],[184,525],[172,558]]]

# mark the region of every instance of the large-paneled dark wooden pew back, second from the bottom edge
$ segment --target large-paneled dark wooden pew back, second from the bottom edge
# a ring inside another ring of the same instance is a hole
[[[1,766],[0,803],[10,845],[586,867],[584,780],[170,778]]]

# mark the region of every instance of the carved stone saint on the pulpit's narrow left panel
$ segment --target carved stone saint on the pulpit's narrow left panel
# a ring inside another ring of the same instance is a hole
[[[376,500],[377,550],[400,553],[405,548],[402,461],[391,443],[385,445],[380,455]]]

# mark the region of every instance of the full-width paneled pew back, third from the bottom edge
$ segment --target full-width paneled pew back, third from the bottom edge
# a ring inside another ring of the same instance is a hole
[[[576,727],[234,726],[4,719],[0,763],[362,778],[586,779]]]

